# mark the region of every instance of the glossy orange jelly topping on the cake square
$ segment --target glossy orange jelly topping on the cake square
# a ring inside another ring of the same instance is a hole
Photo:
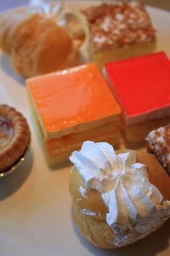
[[[120,113],[115,97],[94,64],[53,72],[26,80],[31,101],[47,134],[69,129],[85,130],[81,124],[114,117]],[[60,134],[61,132],[61,134]]]

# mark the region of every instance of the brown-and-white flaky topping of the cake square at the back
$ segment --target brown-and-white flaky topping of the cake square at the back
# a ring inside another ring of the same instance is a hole
[[[155,41],[155,31],[144,4],[119,1],[82,12],[88,20],[94,52]]]

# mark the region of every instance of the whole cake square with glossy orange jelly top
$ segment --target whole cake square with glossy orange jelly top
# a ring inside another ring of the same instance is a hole
[[[120,107],[94,64],[26,80],[50,165],[65,162],[84,140],[119,143]]]

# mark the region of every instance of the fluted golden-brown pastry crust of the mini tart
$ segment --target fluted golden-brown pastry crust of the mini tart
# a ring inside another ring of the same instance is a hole
[[[0,105],[0,116],[12,124],[12,138],[4,148],[0,145],[0,172],[7,170],[20,159],[31,140],[30,129],[26,118],[7,105]]]

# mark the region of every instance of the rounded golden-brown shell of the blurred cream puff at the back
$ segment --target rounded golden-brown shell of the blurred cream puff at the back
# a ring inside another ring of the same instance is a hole
[[[12,65],[26,78],[55,71],[72,50],[72,39],[65,29],[41,15],[31,15],[20,23],[12,42]]]

